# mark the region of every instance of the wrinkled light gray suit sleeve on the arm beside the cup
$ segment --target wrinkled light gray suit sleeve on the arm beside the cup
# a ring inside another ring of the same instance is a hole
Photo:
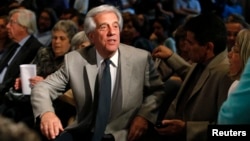
[[[66,74],[66,67],[63,65],[44,81],[34,86],[31,91],[31,104],[34,117],[48,111],[54,112],[52,101],[65,91],[68,80]]]

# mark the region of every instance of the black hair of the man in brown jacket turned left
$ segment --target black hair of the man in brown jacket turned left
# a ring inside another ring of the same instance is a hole
[[[214,44],[214,54],[226,49],[227,30],[223,20],[213,13],[201,14],[190,18],[184,25],[186,31],[194,33],[200,45]]]

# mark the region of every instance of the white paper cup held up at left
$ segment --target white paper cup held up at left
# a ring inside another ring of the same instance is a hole
[[[22,93],[30,95],[31,85],[29,79],[36,76],[36,65],[35,64],[23,64],[20,65]]]

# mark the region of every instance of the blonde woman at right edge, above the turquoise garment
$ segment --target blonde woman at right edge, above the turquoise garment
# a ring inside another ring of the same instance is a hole
[[[235,80],[229,88],[228,94],[230,94],[237,84],[242,71],[245,68],[248,58],[250,57],[250,29],[242,29],[236,37],[235,44],[231,51],[228,52],[229,58],[229,76]]]

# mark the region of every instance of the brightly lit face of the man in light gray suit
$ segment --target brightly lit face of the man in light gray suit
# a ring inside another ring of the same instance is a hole
[[[103,58],[111,57],[119,47],[120,28],[118,18],[113,12],[99,13],[94,17],[96,29],[89,38]]]

